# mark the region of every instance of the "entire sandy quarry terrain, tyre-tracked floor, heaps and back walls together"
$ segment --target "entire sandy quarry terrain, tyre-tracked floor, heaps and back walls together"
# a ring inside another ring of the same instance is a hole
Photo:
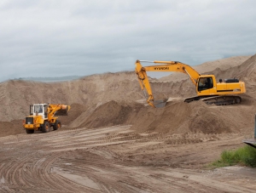
[[[242,103],[228,106],[184,103],[195,88],[177,75],[152,79],[169,99],[161,109],[146,105],[134,71],[1,82],[0,192],[255,192],[256,169],[209,167],[253,136],[255,65],[256,55],[195,67],[246,82]],[[61,129],[26,134],[22,119],[38,102],[71,105]]]

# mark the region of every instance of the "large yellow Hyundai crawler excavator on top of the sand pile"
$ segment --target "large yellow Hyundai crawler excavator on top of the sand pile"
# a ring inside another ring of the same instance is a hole
[[[141,65],[141,62],[151,62],[161,65]],[[185,99],[189,103],[194,100],[203,100],[208,105],[231,105],[241,103],[241,97],[237,94],[246,93],[245,83],[236,78],[220,79],[216,81],[214,75],[201,75],[191,66],[185,65],[178,61],[145,61],[137,60],[135,63],[135,71],[141,88],[145,94],[149,105],[154,107],[163,107],[166,105],[167,99],[154,100],[152,89],[147,76],[147,71],[176,71],[182,72],[189,76],[190,80],[195,84],[197,96]]]

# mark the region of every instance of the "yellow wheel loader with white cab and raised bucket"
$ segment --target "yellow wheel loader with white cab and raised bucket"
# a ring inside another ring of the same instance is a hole
[[[30,105],[30,116],[23,120],[23,128],[26,133],[34,133],[40,130],[44,133],[49,132],[50,127],[54,130],[61,128],[61,122],[57,116],[67,116],[70,105],[61,104],[34,104]]]

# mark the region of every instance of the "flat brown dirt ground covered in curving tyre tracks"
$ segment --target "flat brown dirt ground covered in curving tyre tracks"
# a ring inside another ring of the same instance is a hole
[[[137,133],[129,125],[6,136],[0,192],[255,192],[256,169],[205,169],[241,136]]]

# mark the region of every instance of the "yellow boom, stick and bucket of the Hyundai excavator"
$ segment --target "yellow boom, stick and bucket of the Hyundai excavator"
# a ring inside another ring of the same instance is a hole
[[[161,65],[150,65],[144,66],[141,62],[150,62],[150,61],[143,61],[137,60],[135,63],[135,71],[137,73],[138,82],[143,90],[143,93],[147,99],[148,105],[157,107],[160,103],[165,103],[166,101],[154,101],[154,96],[152,93],[152,89],[150,87],[150,83],[147,76],[147,71],[177,71],[185,73],[189,76],[191,82],[195,85],[200,77],[200,74],[195,71],[189,65],[185,65],[178,61],[152,61],[150,63],[154,64],[161,64]]]

